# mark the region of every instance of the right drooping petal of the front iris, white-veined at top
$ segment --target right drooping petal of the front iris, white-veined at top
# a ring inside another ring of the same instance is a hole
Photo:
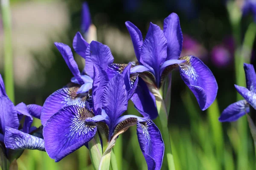
[[[148,119],[146,122],[137,122],[137,136],[148,170],[160,170],[164,153],[160,130]]]

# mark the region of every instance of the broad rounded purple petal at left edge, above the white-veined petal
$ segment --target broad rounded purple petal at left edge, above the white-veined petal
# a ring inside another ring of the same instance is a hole
[[[6,96],[0,96],[0,133],[5,133],[6,126],[18,129],[19,119],[15,106]]]

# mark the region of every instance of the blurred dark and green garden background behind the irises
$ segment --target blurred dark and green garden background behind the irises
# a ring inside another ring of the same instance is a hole
[[[14,55],[15,103],[43,105],[44,100],[66,85],[72,73],[53,42],[72,46],[81,28],[82,0],[11,0]],[[232,34],[226,0],[87,0],[98,41],[108,45],[115,62],[136,59],[125,27],[131,21],[145,37],[150,22],[163,27],[163,20],[175,12],[183,31],[182,55],[199,57],[218,82],[214,109],[201,111],[195,97],[174,72],[169,132],[177,170],[254,170],[253,139],[244,116],[238,122],[220,123],[218,116],[236,102],[234,53],[239,45]],[[243,0],[236,0],[241,7]],[[241,39],[252,15],[242,17]],[[255,48],[253,48],[255,49]],[[77,54],[79,67],[84,63]],[[255,63],[254,51],[250,61]],[[0,73],[3,75],[3,28],[0,23]],[[133,104],[128,113],[138,114]],[[158,120],[155,120],[156,123]],[[40,120],[35,121],[40,125]],[[119,169],[146,170],[137,142],[136,127],[117,140],[114,148]],[[17,161],[19,170],[92,170],[86,147],[58,163],[47,153],[26,150]],[[166,162],[163,170],[167,169]]]

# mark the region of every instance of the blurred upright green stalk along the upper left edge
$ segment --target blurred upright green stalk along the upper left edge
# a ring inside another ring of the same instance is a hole
[[[1,0],[1,10],[3,19],[3,49],[4,49],[4,78],[6,93],[14,103],[14,80],[12,62],[12,25],[11,10],[9,0]]]

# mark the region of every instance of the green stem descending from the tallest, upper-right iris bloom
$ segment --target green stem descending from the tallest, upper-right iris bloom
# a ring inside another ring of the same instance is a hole
[[[160,94],[163,94],[163,91],[160,89]],[[171,140],[169,136],[168,130],[168,113],[166,110],[165,102],[163,101],[162,96],[155,96],[156,97],[156,105],[157,111],[159,115],[159,119],[162,125],[162,137],[165,144],[165,154],[168,161],[168,168],[169,170],[175,170],[174,159],[172,155],[172,147],[171,147]]]

